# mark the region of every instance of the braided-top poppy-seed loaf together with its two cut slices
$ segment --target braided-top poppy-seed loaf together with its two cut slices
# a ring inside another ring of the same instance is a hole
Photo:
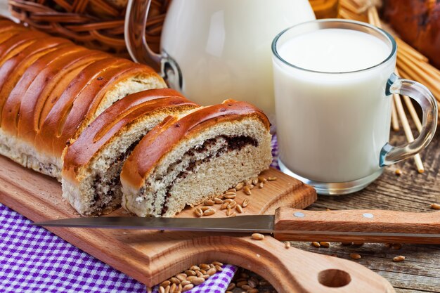
[[[165,87],[150,67],[0,17],[0,154],[62,181],[79,214],[174,216],[268,168],[260,110]]]

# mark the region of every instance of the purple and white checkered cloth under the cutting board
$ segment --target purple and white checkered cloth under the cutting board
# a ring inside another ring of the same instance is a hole
[[[272,166],[278,167],[275,136],[272,147]],[[0,204],[0,293],[146,292],[141,282],[31,223]],[[224,293],[235,271],[235,266],[225,265],[188,293]]]

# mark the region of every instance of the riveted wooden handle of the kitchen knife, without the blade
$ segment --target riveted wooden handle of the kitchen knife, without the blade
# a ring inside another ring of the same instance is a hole
[[[280,231],[274,233],[278,240],[440,244],[440,212],[281,207],[275,213],[275,230]]]

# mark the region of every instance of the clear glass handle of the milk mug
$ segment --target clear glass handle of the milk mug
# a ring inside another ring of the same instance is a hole
[[[413,98],[423,111],[422,130],[415,141],[400,146],[387,143],[380,152],[380,167],[401,161],[411,157],[432,141],[437,127],[437,103],[431,91],[426,86],[408,79],[401,79],[396,74],[388,79],[387,95],[398,93],[399,95]]]

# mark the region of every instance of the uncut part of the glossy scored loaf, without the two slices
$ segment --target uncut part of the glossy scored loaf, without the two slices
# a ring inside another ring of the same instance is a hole
[[[166,87],[145,65],[0,22],[0,154],[58,180],[70,138],[130,93]]]

